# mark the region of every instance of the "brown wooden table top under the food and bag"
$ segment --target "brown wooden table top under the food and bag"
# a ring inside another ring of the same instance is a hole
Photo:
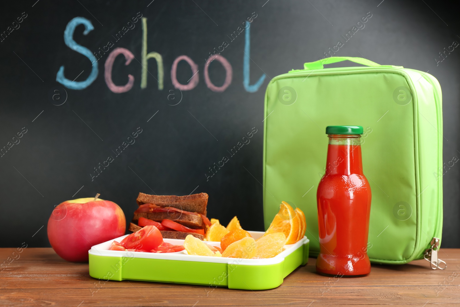
[[[276,289],[230,290],[139,281],[101,282],[87,263],[62,260],[50,248],[0,249],[0,260],[19,258],[0,269],[0,306],[459,306],[460,249],[442,249],[447,269],[428,261],[403,266],[373,265],[362,278],[316,274],[315,259]],[[7,262],[8,263],[8,262]]]

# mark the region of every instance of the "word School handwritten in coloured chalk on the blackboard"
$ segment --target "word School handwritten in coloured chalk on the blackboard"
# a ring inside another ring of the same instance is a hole
[[[142,14],[139,16],[140,13],[138,13],[138,17],[142,16]],[[243,57],[243,86],[247,92],[254,93],[257,92],[259,87],[262,85],[263,81],[265,80],[265,74],[261,75],[258,79],[258,81],[254,84],[249,84],[249,71],[250,71],[250,28],[249,28],[249,23],[252,23],[254,18],[257,17],[257,14],[255,12],[252,13],[252,17],[247,17],[247,20],[243,22],[245,26],[243,27],[238,27],[237,31],[239,33],[242,33],[243,30],[245,30],[245,46],[244,46],[244,57]],[[133,17],[136,19],[133,19],[133,22],[137,21],[138,17]],[[163,67],[163,57],[161,56],[160,53],[158,52],[149,52],[147,53],[147,18],[141,17],[140,18],[142,21],[142,51],[140,54],[141,58],[141,66],[142,66],[142,73],[141,73],[141,81],[140,81],[140,87],[142,89],[147,87],[147,72],[148,70],[148,60],[149,59],[155,59],[156,64],[157,64],[157,80],[158,80],[158,89],[162,90],[163,89],[163,79],[164,79],[164,67]],[[130,22],[131,23],[131,22]],[[106,48],[98,48],[98,51],[96,52],[91,52],[90,49],[79,45],[76,41],[74,41],[74,32],[75,29],[79,26],[83,25],[85,27],[85,30],[83,31],[83,35],[88,35],[92,30],[94,30],[94,26],[92,25],[91,21],[84,17],[75,17],[72,20],[69,21],[67,24],[65,30],[64,30],[64,42],[65,44],[72,50],[84,55],[88,60],[92,63],[92,69],[90,75],[86,78],[85,81],[73,81],[71,79],[67,79],[65,77],[64,73],[64,66],[61,66],[59,70],[57,71],[56,75],[56,81],[61,83],[63,86],[74,89],[74,90],[83,90],[86,87],[90,86],[94,80],[98,77],[98,61],[103,58],[106,52],[109,52],[110,48],[114,45],[112,41],[109,41],[107,45],[105,45]],[[80,28],[79,28],[80,29]],[[134,29],[134,27],[130,28]],[[126,33],[129,29],[127,27],[123,27],[121,31]],[[110,91],[113,93],[126,93],[130,91],[135,83],[135,79],[133,75],[128,75],[128,82],[124,85],[116,85],[112,81],[112,66],[114,64],[115,58],[119,55],[122,55],[125,57],[125,65],[129,65],[131,61],[135,58],[132,52],[126,48],[122,47],[117,47],[113,49],[107,56],[107,59],[105,60],[104,64],[104,79],[105,83],[107,84],[107,87],[109,88]],[[177,66],[180,61],[184,60],[190,65],[190,68],[192,70],[192,77],[190,80],[187,82],[187,84],[181,84],[177,80],[176,76],[176,71],[177,71]],[[222,86],[216,86],[213,84],[209,77],[209,64],[211,62],[219,62],[225,69],[225,81]],[[222,55],[220,55],[220,51],[213,52],[213,54],[210,54],[209,58],[207,59],[206,63],[204,64],[203,68],[203,74],[204,74],[204,81],[206,83],[206,86],[213,92],[224,92],[227,87],[230,86],[232,77],[233,77],[233,69],[232,66],[230,65],[229,61],[224,58]],[[199,70],[198,70],[198,65],[188,56],[186,55],[180,55],[178,56],[172,64],[171,67],[171,81],[174,85],[175,88],[178,88],[181,91],[190,91],[194,89],[199,82]]]

